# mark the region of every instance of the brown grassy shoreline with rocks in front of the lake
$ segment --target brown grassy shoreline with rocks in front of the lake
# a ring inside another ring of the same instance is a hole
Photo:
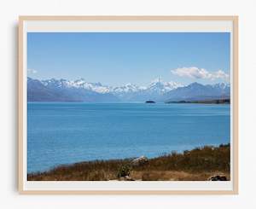
[[[61,165],[50,171],[31,173],[28,181],[205,181],[222,175],[230,179],[230,144],[206,146],[172,152],[154,159],[135,162],[125,160],[96,160],[73,165]]]

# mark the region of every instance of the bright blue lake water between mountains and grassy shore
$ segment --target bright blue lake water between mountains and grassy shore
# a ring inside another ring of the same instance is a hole
[[[27,104],[27,171],[230,142],[230,105]]]

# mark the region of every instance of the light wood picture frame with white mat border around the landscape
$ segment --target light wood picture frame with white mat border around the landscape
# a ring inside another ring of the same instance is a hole
[[[230,33],[229,181],[225,183],[218,181],[147,181],[146,183],[115,181],[113,183],[111,181],[110,183],[110,181],[27,180],[28,32],[194,31]],[[18,53],[18,190],[20,194],[238,194],[238,16],[20,16]]]

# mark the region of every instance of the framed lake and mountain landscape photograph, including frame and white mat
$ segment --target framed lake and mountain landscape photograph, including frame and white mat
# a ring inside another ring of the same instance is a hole
[[[238,194],[237,16],[20,16],[20,194]]]

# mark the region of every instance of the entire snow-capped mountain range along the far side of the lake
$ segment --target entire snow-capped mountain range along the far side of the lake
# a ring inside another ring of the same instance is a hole
[[[155,79],[148,86],[118,87],[77,80],[27,78],[28,102],[170,102],[230,97],[230,84],[178,84]]]

